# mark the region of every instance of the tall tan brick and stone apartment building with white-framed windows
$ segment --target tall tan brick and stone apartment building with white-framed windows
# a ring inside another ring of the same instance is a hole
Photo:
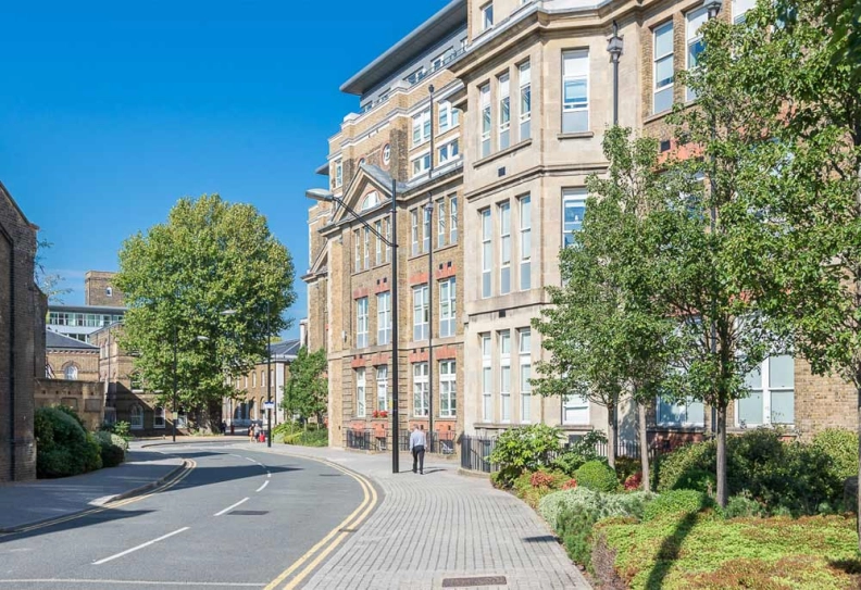
[[[718,17],[744,18],[753,4],[727,0]],[[403,424],[423,417],[428,390],[422,285],[428,283],[425,252],[434,248],[435,302],[449,261],[457,284],[452,337],[440,338],[436,321],[445,312],[434,305],[434,415],[442,411],[438,361],[450,350],[457,432],[495,435],[537,422],[573,436],[604,427],[607,411],[587,400],[532,396],[533,366],[547,355],[529,325],[549,302],[546,287],[561,284],[559,251],[581,227],[587,177],[607,171],[601,145],[614,116],[672,149],[665,116],[675,102],[695,98],[674,83],[675,74],[696,64],[707,18],[702,0],[456,0],[341,88],[361,97],[361,112],[345,117],[319,172],[383,231],[387,187],[392,177],[399,183]],[[609,49],[620,43],[614,91]],[[439,113],[433,121],[426,115],[430,84]],[[430,153],[428,140],[440,148],[456,135],[457,160],[445,165],[448,154]],[[428,158],[436,166],[430,175]],[[449,225],[457,224],[457,247],[448,246],[451,239],[437,243],[436,217],[427,230],[422,204],[428,194],[446,203],[457,198]],[[375,400],[383,407],[386,396],[385,373],[377,380],[374,368],[388,362],[389,347],[377,335],[390,309],[379,300],[389,292],[386,251],[375,254],[374,236],[342,208],[316,204],[309,224],[309,344],[329,355],[332,443],[342,444],[348,428],[372,427],[382,436],[386,420],[364,417]],[[788,424],[809,435],[856,426],[851,387],[811,376],[790,355],[766,360],[748,385],[752,394],[731,409],[735,429]],[[622,437],[634,438],[631,410],[621,414]],[[698,437],[712,426],[701,403],[660,400],[649,424],[665,438]]]

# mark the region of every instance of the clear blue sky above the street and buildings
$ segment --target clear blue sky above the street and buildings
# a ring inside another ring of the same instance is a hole
[[[297,335],[304,189],[325,186],[326,140],[359,104],[338,87],[447,3],[1,2],[0,180],[53,242],[65,302],[178,198],[217,192],[292,253]]]

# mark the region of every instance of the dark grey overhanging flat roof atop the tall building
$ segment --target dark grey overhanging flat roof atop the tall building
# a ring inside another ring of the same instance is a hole
[[[364,95],[422,55],[428,47],[466,24],[466,0],[453,0],[416,29],[395,43],[358,74],[345,81],[340,89],[348,95]]]

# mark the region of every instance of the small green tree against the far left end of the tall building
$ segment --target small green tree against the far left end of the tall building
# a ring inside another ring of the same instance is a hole
[[[315,416],[317,424],[322,424],[328,402],[326,367],[325,350],[309,353],[307,347],[299,349],[284,386],[282,407],[287,415],[298,414],[304,419]]]

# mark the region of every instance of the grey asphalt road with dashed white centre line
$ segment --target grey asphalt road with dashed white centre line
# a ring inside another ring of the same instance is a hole
[[[0,536],[0,590],[264,588],[365,499],[357,479],[315,461],[224,444],[160,450],[196,464],[170,489]]]

